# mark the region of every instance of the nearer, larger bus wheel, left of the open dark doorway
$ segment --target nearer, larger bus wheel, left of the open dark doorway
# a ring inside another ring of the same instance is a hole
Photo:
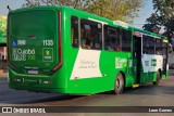
[[[117,74],[114,83],[114,93],[121,94],[124,90],[124,78],[121,73]]]

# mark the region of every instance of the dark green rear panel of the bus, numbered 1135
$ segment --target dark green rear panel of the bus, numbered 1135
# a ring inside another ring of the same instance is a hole
[[[37,69],[38,74],[45,75],[58,63],[57,21],[58,14],[53,10],[10,15],[10,61],[18,74]]]

